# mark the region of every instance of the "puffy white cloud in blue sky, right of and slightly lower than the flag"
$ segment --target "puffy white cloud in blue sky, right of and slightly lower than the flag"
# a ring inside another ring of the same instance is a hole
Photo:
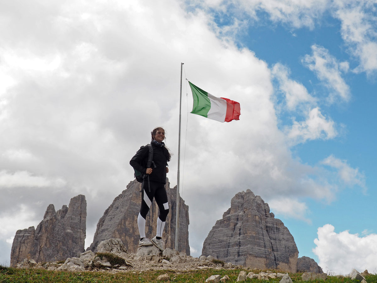
[[[333,120],[326,119],[319,107],[316,107],[309,111],[307,120],[294,121],[291,128],[287,129],[287,135],[292,143],[303,143],[307,140],[334,138],[337,131]]]

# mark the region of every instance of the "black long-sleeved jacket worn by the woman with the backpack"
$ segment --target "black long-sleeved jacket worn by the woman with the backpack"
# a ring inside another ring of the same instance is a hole
[[[152,168],[152,173],[149,175],[149,180],[165,184],[166,183],[166,166],[167,166],[167,156],[166,156],[167,149],[165,149],[163,146],[158,146],[155,143],[151,143],[151,145],[153,147],[152,160],[154,164],[152,163],[152,165],[150,166]],[[149,155],[148,146],[142,146],[130,160],[130,165],[133,167],[133,169],[136,169],[137,171],[141,173],[146,173],[148,155]]]

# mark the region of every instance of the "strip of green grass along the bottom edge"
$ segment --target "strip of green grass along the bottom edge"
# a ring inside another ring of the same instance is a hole
[[[242,269],[205,269],[188,272],[175,272],[170,270],[158,271],[129,271],[126,273],[111,274],[108,272],[65,272],[47,271],[42,269],[15,269],[2,266],[0,269],[0,283],[161,283],[157,277],[167,273],[170,282],[177,283],[204,283],[211,275],[219,274],[221,277],[228,275],[230,280],[227,283],[236,282],[239,272]],[[249,272],[249,270],[245,270]],[[257,273],[259,271],[254,271]],[[290,274],[294,283],[307,283],[302,281],[302,273]],[[280,279],[270,279],[269,283],[279,283]],[[377,275],[366,276],[368,283],[377,283]],[[245,283],[265,283],[258,279],[247,279]],[[314,280],[311,283],[324,283],[323,280]],[[358,280],[350,278],[337,278],[328,276],[326,283],[359,283]]]

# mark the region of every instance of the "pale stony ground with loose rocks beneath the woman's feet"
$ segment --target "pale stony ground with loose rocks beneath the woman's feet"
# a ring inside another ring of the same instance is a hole
[[[155,246],[139,247],[135,254],[127,253],[126,247],[120,239],[110,239],[102,241],[98,245],[98,252],[83,252],[80,257],[67,258],[64,262],[52,261],[46,263],[37,263],[33,259],[27,259],[17,263],[16,268],[47,269],[50,271],[72,271],[72,272],[144,272],[153,270],[174,270],[175,272],[187,272],[198,269],[243,269],[239,273],[239,280],[244,281],[246,278],[258,278],[259,280],[268,281],[271,278],[281,278],[281,283],[292,283],[288,273],[279,273],[265,271],[257,273],[255,269],[236,266],[232,263],[224,263],[213,256],[201,256],[199,258],[187,256],[184,252],[178,252],[173,249],[165,249],[161,252]],[[246,271],[245,271],[246,270]],[[248,273],[247,273],[248,271]],[[255,272],[255,273],[254,273]],[[367,283],[365,280],[368,271],[360,274],[355,269],[348,275],[351,279],[357,279],[361,283]],[[213,275],[208,278],[207,282],[227,281],[226,277],[220,278],[220,275]],[[340,277],[342,275],[337,275]],[[316,274],[305,272],[302,274],[303,281],[313,281],[316,279],[326,280],[327,274]]]

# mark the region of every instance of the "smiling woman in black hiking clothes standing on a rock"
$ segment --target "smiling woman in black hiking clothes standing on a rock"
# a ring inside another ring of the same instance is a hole
[[[160,251],[164,251],[164,241],[162,232],[164,231],[165,221],[169,213],[167,203],[167,194],[165,189],[166,173],[169,172],[167,162],[170,161],[172,154],[165,147],[165,130],[161,127],[153,129],[151,132],[153,147],[152,168],[147,168],[149,149],[148,146],[142,146],[135,156],[130,160],[130,165],[142,174],[149,175],[149,181],[144,181],[141,189],[141,207],[138,215],[138,227],[140,233],[139,246],[155,245]],[[152,204],[153,197],[156,200],[159,209],[157,218],[156,236],[150,240],[145,235],[146,217]]]

